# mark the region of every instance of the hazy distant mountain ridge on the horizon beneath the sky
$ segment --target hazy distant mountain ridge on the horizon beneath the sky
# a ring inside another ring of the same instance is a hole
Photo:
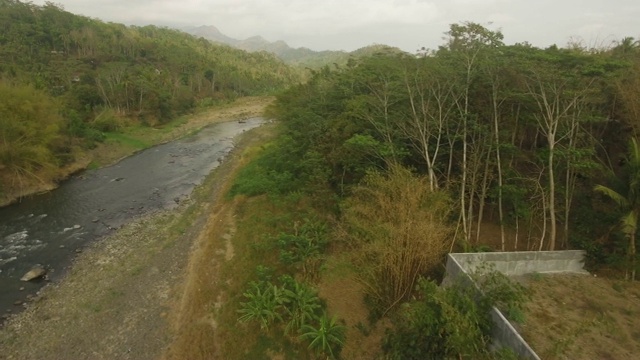
[[[285,63],[310,68],[319,68],[327,64],[346,64],[349,58],[371,55],[376,52],[402,52],[398,48],[387,45],[370,45],[353,52],[346,51],[314,51],[305,47],[292,48],[286,42],[278,40],[270,42],[262,36],[252,36],[245,40],[231,38],[213,25],[184,28],[183,31],[205,39],[227,44],[248,52],[266,51],[275,54]]]

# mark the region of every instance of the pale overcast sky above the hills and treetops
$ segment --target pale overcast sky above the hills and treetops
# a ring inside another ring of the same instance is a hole
[[[606,46],[640,38],[640,0],[54,0],[104,21],[169,27],[214,25],[236,39],[261,35],[313,50],[370,44],[436,48],[449,24],[473,21],[505,42]],[[33,1],[43,4],[43,0]]]

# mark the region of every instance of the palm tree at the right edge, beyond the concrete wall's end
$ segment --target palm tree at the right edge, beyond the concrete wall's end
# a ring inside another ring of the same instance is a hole
[[[629,154],[626,159],[621,190],[616,191],[610,187],[596,185],[595,191],[612,199],[622,210],[620,229],[628,240],[627,270],[625,278],[628,278],[631,269],[631,280],[636,278],[636,232],[638,230],[638,217],[640,215],[640,147],[638,141],[632,138],[629,142]]]

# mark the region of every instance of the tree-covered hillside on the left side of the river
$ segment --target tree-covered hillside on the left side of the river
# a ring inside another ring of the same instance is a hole
[[[54,178],[105,132],[162,125],[299,79],[267,53],[0,0],[0,191]]]

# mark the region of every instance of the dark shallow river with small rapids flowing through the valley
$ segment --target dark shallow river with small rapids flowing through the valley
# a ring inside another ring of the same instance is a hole
[[[252,118],[214,124],[0,208],[0,315],[15,313],[20,308],[14,304],[59,279],[88,242],[188,198],[232,150],[233,138],[262,123]],[[49,279],[20,281],[35,264],[54,270]]]

